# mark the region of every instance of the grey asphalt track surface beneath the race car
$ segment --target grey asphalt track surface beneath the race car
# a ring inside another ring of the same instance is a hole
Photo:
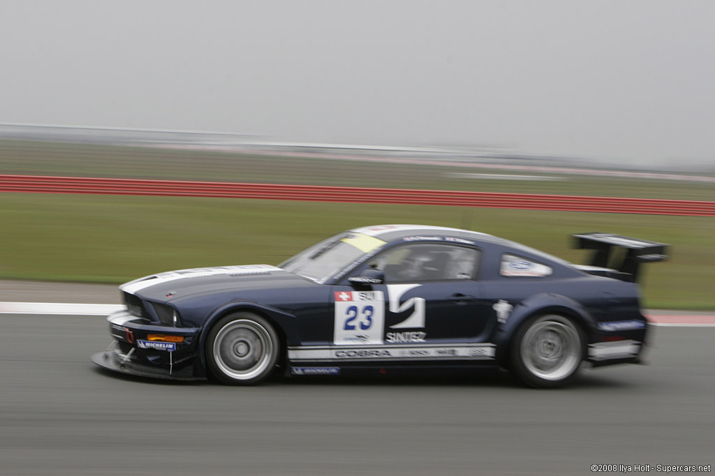
[[[586,475],[715,462],[715,329],[652,328],[649,365],[563,390],[501,372],[259,387],[100,370],[97,316],[0,314],[1,475]],[[651,472],[651,474],[653,474]]]

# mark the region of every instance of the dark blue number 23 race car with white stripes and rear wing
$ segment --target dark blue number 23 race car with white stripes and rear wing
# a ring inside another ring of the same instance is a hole
[[[560,387],[583,362],[639,361],[641,263],[666,244],[576,234],[580,266],[463,229],[388,224],[341,232],[271,266],[183,269],[119,287],[116,372],[255,385],[268,376],[501,367]]]

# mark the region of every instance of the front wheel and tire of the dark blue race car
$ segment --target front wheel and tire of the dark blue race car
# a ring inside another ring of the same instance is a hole
[[[228,314],[207,335],[206,362],[219,382],[255,385],[275,368],[279,343],[266,319],[252,312]]]

